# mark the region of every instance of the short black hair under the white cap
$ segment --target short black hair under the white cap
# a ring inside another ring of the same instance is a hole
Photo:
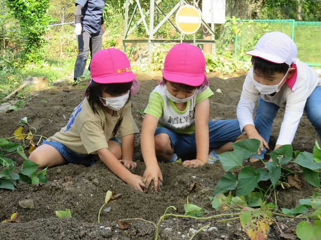
[[[274,63],[258,56],[252,56],[251,62],[253,69],[263,76],[273,75],[275,72],[286,73],[289,69],[289,65],[285,62],[280,64]]]

